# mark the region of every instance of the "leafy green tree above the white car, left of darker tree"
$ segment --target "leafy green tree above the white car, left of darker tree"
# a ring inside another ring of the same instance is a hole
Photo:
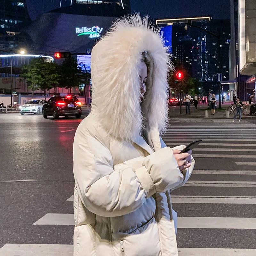
[[[28,65],[22,67],[21,76],[30,83],[28,88],[34,91],[41,89],[44,91],[46,99],[46,90],[56,86],[59,82],[58,65],[53,62],[47,62],[45,58],[35,58]]]

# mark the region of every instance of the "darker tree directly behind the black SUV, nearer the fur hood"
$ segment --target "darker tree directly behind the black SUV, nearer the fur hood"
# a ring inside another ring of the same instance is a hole
[[[66,89],[71,87],[78,87],[83,83],[84,79],[87,79],[82,72],[81,68],[78,66],[77,61],[74,58],[65,59],[59,69],[60,74],[60,86]]]

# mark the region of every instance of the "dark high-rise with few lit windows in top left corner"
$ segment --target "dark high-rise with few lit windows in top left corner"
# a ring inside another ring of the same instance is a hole
[[[20,28],[30,22],[26,0],[0,0],[0,53],[31,46],[29,37],[20,35]]]

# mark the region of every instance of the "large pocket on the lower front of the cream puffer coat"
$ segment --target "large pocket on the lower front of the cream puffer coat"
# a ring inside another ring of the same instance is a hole
[[[131,233],[112,233],[115,255],[158,256],[161,252],[158,227],[153,217]]]

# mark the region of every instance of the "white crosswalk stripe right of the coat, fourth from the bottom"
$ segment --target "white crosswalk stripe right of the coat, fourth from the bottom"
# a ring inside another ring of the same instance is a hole
[[[255,181],[188,180],[184,187],[256,188]]]

